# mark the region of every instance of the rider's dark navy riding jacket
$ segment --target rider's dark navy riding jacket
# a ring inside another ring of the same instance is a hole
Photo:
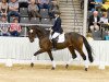
[[[53,33],[57,32],[57,33],[62,34],[63,30],[61,27],[61,19],[60,17],[57,17],[57,20],[55,21],[55,25],[52,26],[52,30],[53,30]]]

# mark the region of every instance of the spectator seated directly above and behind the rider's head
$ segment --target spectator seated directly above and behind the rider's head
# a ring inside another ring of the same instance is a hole
[[[49,16],[55,17],[55,12],[59,12],[59,5],[57,4],[57,1],[52,1],[52,4],[49,9]]]

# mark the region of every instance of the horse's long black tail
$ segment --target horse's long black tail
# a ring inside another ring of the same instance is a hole
[[[88,52],[88,59],[89,59],[90,62],[93,62],[94,58],[92,56],[92,47],[90,47],[90,45],[88,44],[87,39],[84,36],[83,36],[83,42],[84,42],[84,45],[85,45],[86,50]]]

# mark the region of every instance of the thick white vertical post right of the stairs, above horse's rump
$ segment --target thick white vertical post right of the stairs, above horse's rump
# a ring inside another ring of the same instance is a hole
[[[84,0],[84,17],[83,17],[83,35],[86,36],[87,28],[87,3],[88,0]]]

